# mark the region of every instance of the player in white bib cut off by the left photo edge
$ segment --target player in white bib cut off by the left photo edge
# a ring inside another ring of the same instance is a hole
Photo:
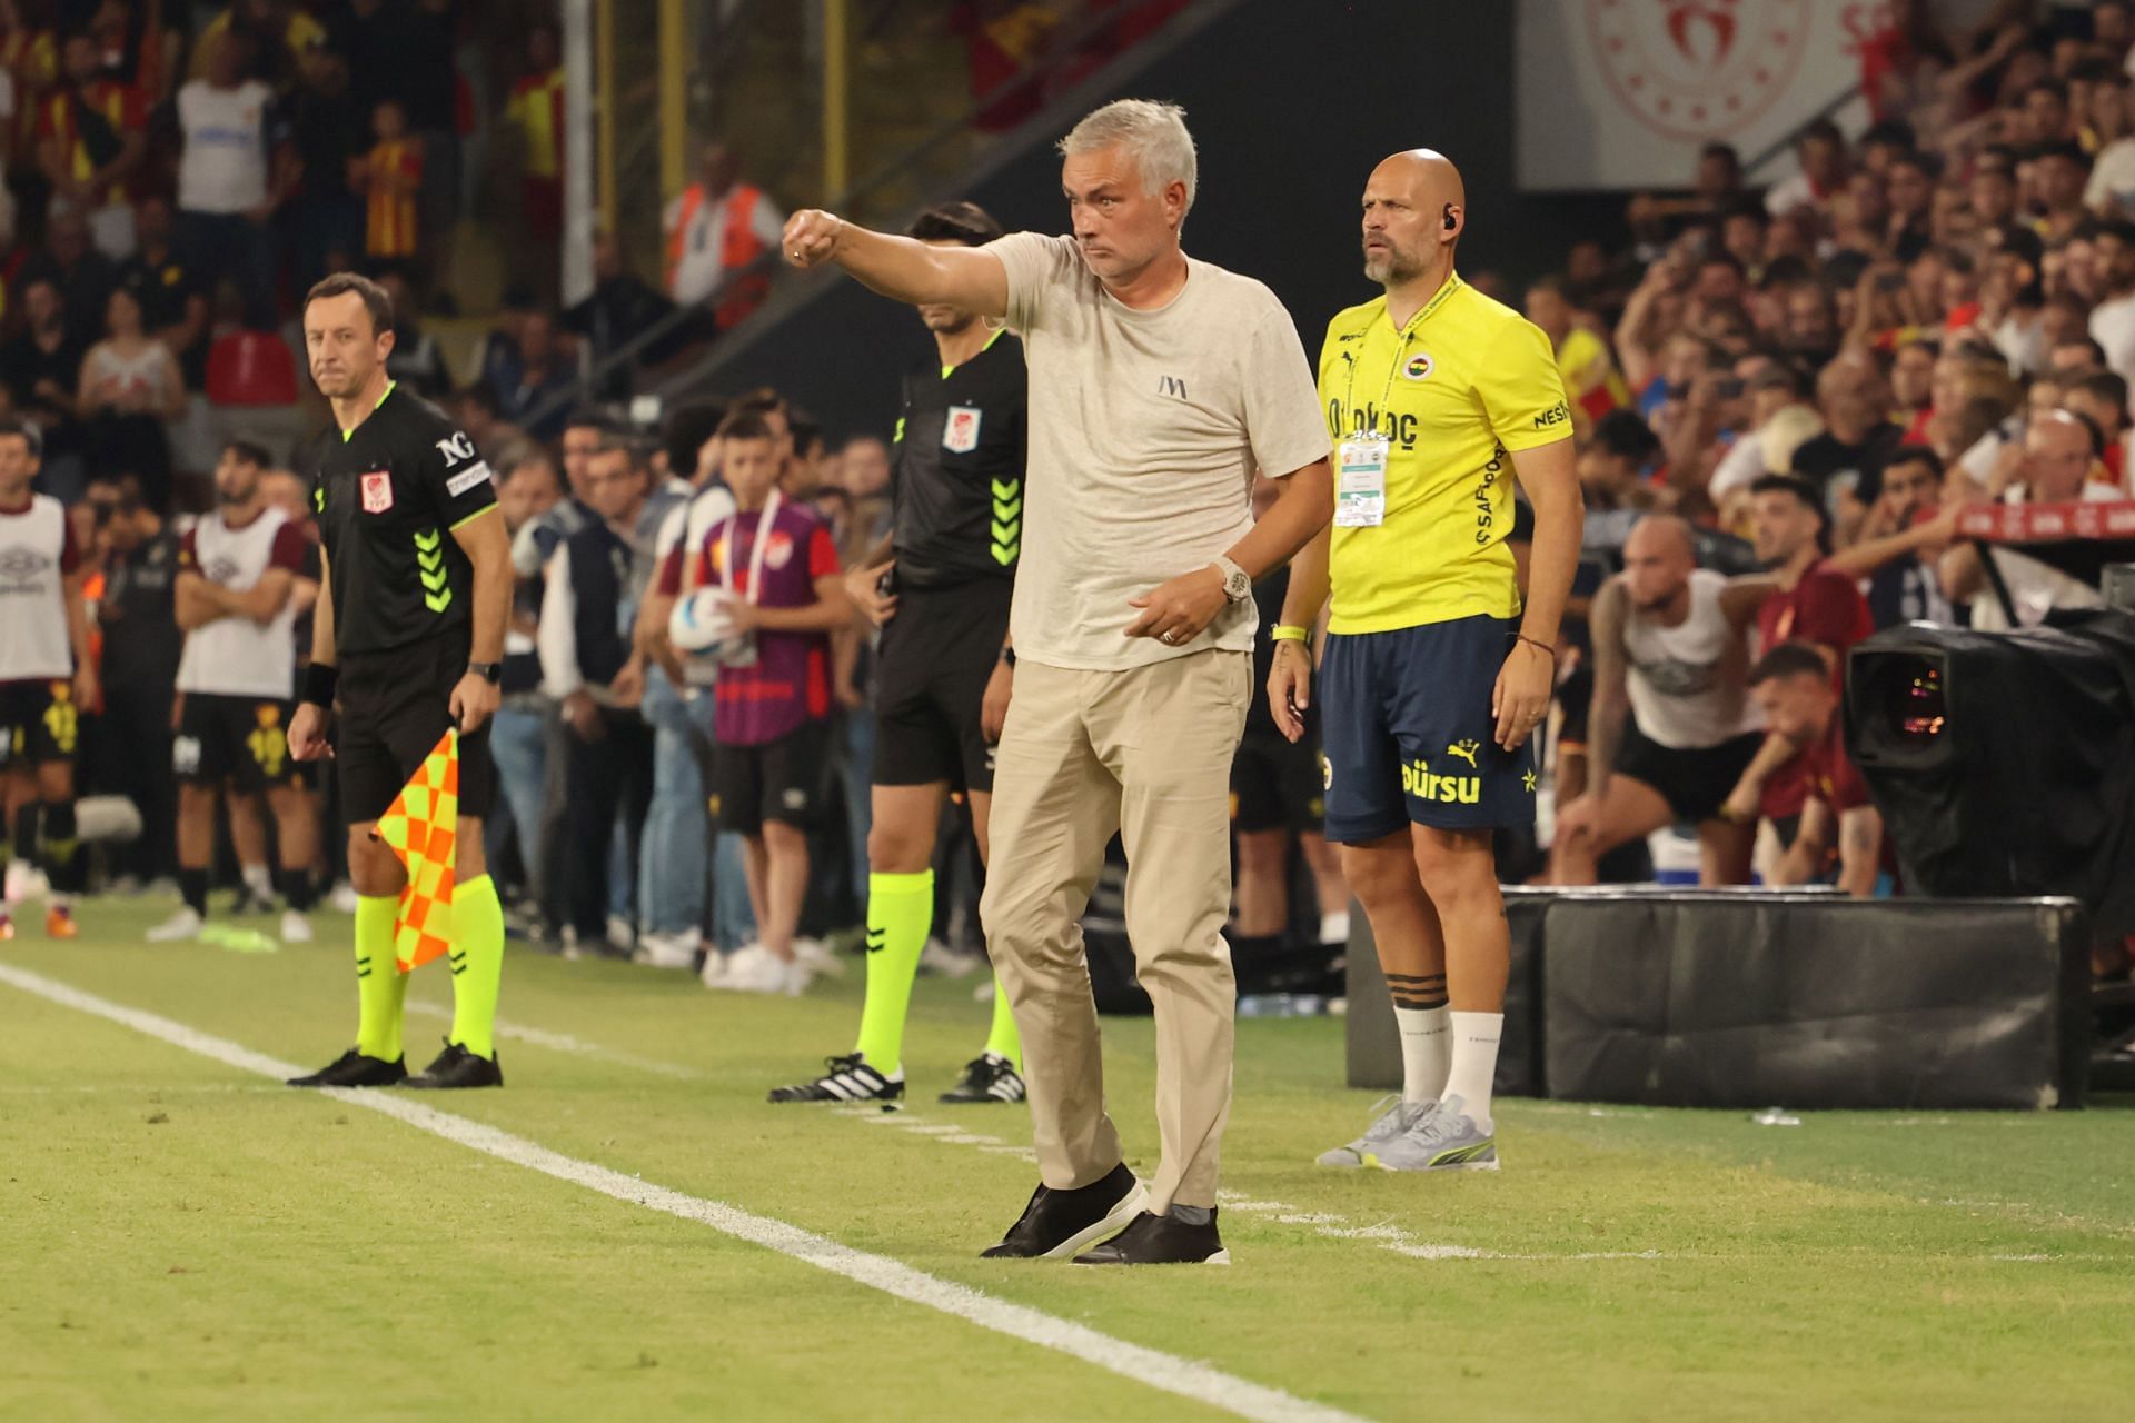
[[[66,508],[30,493],[36,431],[0,420],[0,789],[15,841],[0,902],[0,941],[15,937],[15,905],[41,868],[49,883],[45,934],[77,934],[81,892],[75,834],[75,740],[81,710],[100,691],[81,606],[81,550]]]

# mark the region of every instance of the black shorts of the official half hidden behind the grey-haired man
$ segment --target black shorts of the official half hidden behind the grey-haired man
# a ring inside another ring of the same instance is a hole
[[[1012,593],[1008,578],[899,591],[875,653],[875,785],[993,789],[980,708]]]

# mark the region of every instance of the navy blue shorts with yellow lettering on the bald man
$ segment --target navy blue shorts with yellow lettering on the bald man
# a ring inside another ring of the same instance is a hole
[[[1409,824],[1486,830],[1535,821],[1533,738],[1503,751],[1490,691],[1512,619],[1469,617],[1328,636],[1319,668],[1326,836],[1377,841]]]

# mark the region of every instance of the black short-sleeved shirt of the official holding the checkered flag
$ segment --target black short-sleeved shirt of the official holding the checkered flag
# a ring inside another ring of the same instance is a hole
[[[310,465],[335,653],[468,636],[474,565],[453,529],[497,501],[474,439],[429,401],[386,386],[363,425],[318,437]]]

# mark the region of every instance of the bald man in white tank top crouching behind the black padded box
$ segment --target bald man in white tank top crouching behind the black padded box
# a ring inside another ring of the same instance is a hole
[[[1749,698],[1749,629],[1772,585],[1697,567],[1687,523],[1648,516],[1593,606],[1586,794],[1556,813],[1550,879],[1595,883],[1595,860],[1680,821],[1697,826],[1697,883],[1749,883],[1755,821],[1723,817],[1764,745]]]

